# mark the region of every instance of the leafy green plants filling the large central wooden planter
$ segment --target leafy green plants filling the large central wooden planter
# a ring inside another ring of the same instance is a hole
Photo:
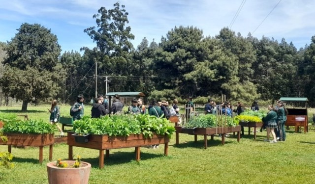
[[[171,136],[175,131],[165,118],[157,118],[149,114],[112,115],[101,118],[84,116],[73,123],[76,133],[108,134],[108,136],[129,136],[129,134],[143,133],[145,137],[152,137],[153,133]]]

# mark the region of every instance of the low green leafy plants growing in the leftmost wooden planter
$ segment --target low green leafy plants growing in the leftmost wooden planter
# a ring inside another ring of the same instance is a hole
[[[8,121],[3,125],[3,133],[55,133],[57,128],[43,120]]]

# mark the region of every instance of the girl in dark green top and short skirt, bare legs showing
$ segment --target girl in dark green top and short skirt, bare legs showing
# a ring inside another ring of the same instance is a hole
[[[267,113],[266,117],[263,119],[264,122],[267,124],[267,139],[265,141],[270,143],[277,143],[277,138],[275,134],[275,128],[277,128],[276,119],[277,113],[274,109],[273,105],[268,105],[269,112]],[[273,140],[270,141],[270,133],[272,134]]]

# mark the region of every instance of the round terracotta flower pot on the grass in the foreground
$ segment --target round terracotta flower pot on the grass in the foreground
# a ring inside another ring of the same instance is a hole
[[[74,160],[63,160],[73,165]],[[81,161],[82,166],[78,168],[56,167],[56,161],[47,163],[49,184],[88,184],[91,164]]]

